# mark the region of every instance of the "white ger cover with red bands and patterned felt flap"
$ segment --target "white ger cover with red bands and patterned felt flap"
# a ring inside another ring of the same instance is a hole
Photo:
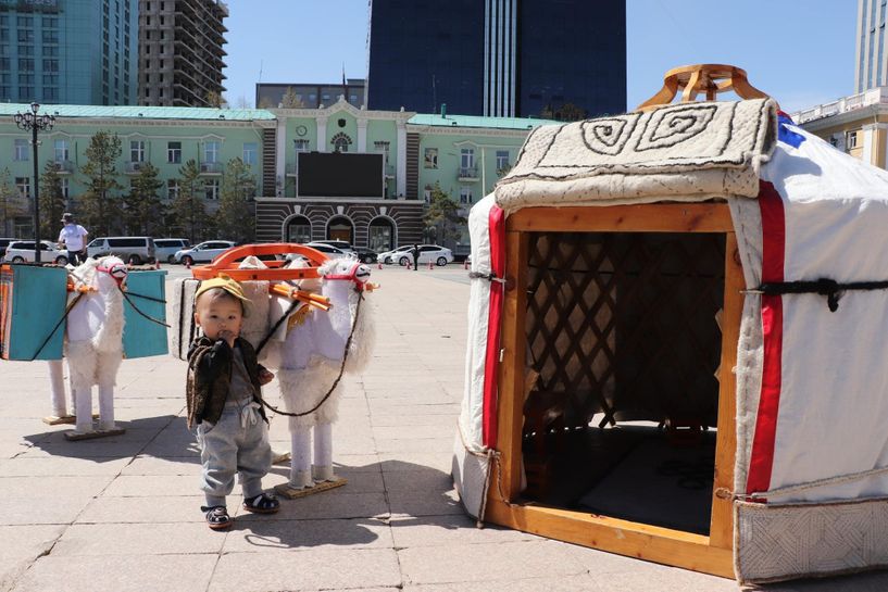
[[[490,270],[487,223],[496,207],[508,215],[526,206],[711,199],[730,205],[748,290],[736,367],[738,579],[884,565],[888,290],[878,284],[888,280],[884,171],[783,115],[778,121],[771,100],[670,105],[538,128],[510,175],[471,213],[473,270]],[[760,293],[763,284],[786,291],[787,282],[823,278],[838,288],[822,282],[823,294],[799,285],[792,286],[809,291]],[[485,376],[496,371],[484,355],[490,286],[473,280],[454,448],[454,468],[462,467],[454,470],[456,487],[466,511],[481,519],[487,458],[496,454],[481,437]],[[855,525],[854,536],[830,528],[842,520]]]

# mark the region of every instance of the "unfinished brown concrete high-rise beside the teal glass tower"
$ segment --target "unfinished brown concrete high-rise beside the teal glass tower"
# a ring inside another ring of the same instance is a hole
[[[138,103],[214,106],[225,91],[227,16],[218,0],[139,0]]]

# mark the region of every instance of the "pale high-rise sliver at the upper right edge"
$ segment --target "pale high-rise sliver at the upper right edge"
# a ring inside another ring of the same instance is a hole
[[[854,92],[888,86],[885,54],[886,0],[858,0],[858,51]]]

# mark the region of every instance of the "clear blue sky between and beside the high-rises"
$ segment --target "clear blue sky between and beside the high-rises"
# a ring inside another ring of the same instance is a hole
[[[226,2],[233,106],[252,106],[258,81],[365,77],[367,0]],[[852,95],[856,11],[856,0],[626,0],[627,109],[697,63],[746,70],[790,113]]]

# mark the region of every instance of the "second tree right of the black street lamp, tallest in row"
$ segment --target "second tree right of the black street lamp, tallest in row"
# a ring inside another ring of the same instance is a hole
[[[87,163],[83,167],[86,191],[79,200],[79,217],[96,236],[108,235],[112,226],[120,226],[120,202],[111,193],[123,189],[116,168],[121,152],[121,138],[110,131],[97,131],[86,149]]]

